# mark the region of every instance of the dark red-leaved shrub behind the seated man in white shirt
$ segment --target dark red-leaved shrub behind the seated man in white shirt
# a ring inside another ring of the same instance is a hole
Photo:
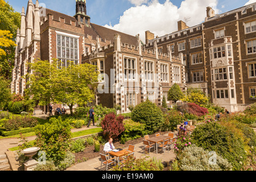
[[[123,116],[116,117],[114,113],[107,114],[101,122],[101,127],[105,139],[113,138],[113,140],[117,140],[118,136],[125,131]]]

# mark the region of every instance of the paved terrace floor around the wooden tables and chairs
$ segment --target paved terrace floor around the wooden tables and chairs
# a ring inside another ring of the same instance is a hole
[[[168,134],[167,134],[168,135]],[[170,162],[171,160],[176,158],[176,155],[174,154],[174,150],[170,150],[169,152],[162,151],[162,149],[158,149],[158,154],[156,154],[154,149],[151,149],[150,156],[151,158],[155,158],[158,160],[162,160],[162,162]],[[143,153],[143,142],[135,144],[135,158],[144,158],[146,155]],[[90,159],[86,162],[82,162],[79,164],[76,164],[75,166],[71,166],[66,171],[100,171],[101,169],[101,158],[98,156],[98,158]],[[106,170],[106,166],[102,165],[102,170]],[[108,171],[110,168],[108,168]]]

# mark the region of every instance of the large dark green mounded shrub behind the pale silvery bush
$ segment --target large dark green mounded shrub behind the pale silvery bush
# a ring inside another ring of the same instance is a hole
[[[233,169],[240,170],[246,160],[245,143],[236,137],[227,127],[217,122],[208,122],[196,127],[192,142],[204,150],[216,151],[217,155],[227,159]]]

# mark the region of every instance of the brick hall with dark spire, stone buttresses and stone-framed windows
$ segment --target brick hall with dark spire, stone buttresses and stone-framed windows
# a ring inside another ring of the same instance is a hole
[[[30,71],[26,63],[54,58],[61,61],[62,67],[68,66],[67,60],[97,65],[101,77],[93,104],[121,105],[122,113],[129,112],[129,105],[147,98],[162,104],[163,96],[175,82],[186,90],[183,53],[173,56],[171,50],[158,52],[156,41],[154,47],[146,49],[139,35],[91,23],[85,0],[76,0],[74,16],[39,7],[38,0],[35,4],[29,0],[26,14],[23,7],[21,15],[11,82],[14,93],[24,94],[26,79],[22,76]],[[47,113],[47,106],[40,109]]]

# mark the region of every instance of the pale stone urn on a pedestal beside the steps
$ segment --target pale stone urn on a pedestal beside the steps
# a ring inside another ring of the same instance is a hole
[[[36,155],[36,153],[38,153],[39,150],[40,150],[39,147],[31,147],[21,151],[22,154],[29,157],[27,162],[24,163],[25,171],[33,171],[36,165],[38,165],[38,162],[32,159],[32,156]]]

